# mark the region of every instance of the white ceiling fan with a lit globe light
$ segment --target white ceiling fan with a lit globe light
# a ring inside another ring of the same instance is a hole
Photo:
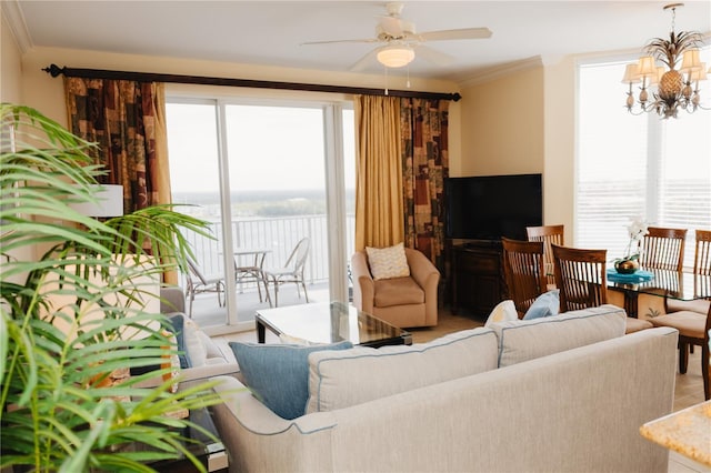
[[[365,68],[373,58],[389,68],[401,68],[414,60],[415,52],[419,57],[437,64],[447,66],[454,61],[449,54],[424,46],[430,41],[448,41],[463,39],[485,39],[491,37],[489,28],[462,28],[454,30],[438,30],[418,33],[414,23],[400,17],[404,4],[402,2],[390,2],[385,4],[387,16],[381,16],[375,27],[375,38],[344,39],[330,41],[309,41],[302,44],[329,44],[342,42],[364,42],[380,43],[353,66],[351,71],[359,71]]]

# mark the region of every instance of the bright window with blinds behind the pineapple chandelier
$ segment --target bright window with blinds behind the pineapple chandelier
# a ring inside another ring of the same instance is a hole
[[[710,49],[702,60],[711,63]],[[684,265],[693,264],[693,231],[711,229],[711,111],[662,120],[624,108],[620,82],[627,62],[579,67],[575,242],[621,256],[627,225],[644,218],[654,227],[689,229]],[[710,81],[702,104],[711,107]]]

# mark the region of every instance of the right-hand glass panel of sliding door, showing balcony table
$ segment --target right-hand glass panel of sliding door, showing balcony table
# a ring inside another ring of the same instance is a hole
[[[323,112],[321,108],[227,104],[224,107],[232,252],[238,268],[254,263],[282,268],[297,243],[308,238],[304,266],[309,301],[328,301],[328,224]],[[260,260],[261,261],[261,260]],[[239,279],[238,279],[239,280]],[[238,321],[251,321],[259,301],[258,280],[238,284]],[[273,285],[269,286],[274,298]],[[307,302],[300,285],[279,286],[279,305]],[[272,301],[273,302],[273,301]]]

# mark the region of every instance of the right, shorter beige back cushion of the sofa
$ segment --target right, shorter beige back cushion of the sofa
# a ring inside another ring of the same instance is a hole
[[[627,313],[614,305],[564,312],[542,319],[494,323],[499,366],[624,335]]]

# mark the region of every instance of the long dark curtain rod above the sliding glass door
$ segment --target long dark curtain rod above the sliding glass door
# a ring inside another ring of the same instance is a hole
[[[152,72],[129,72],[129,71],[109,71],[102,69],[76,69],[60,68],[51,64],[44,69],[44,72],[56,78],[61,74],[69,78],[82,79],[113,79],[113,80],[132,80],[137,82],[171,82],[171,83],[193,83],[200,85],[228,85],[228,87],[248,87],[253,89],[282,89],[282,90],[302,90],[309,92],[334,92],[334,93],[352,93],[362,95],[392,95],[414,99],[430,100],[453,100],[459,101],[462,97],[458,93],[441,92],[417,92],[411,90],[384,90],[360,87],[343,85],[324,85],[316,83],[298,83],[298,82],[276,82],[264,80],[250,79],[229,79],[229,78],[211,78],[202,76],[180,76],[180,74],[161,74]]]

